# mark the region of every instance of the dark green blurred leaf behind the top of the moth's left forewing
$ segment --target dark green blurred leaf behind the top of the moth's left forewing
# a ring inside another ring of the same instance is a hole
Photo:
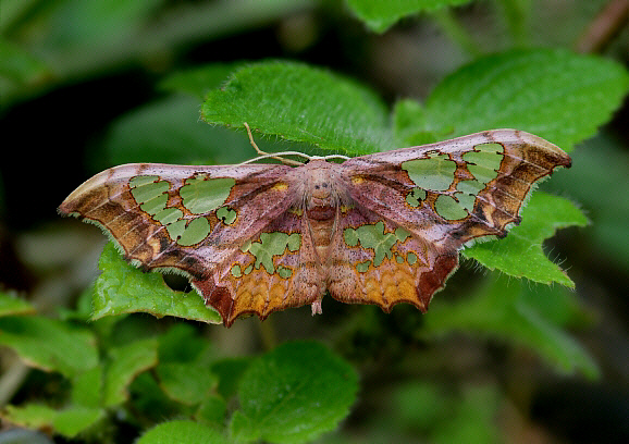
[[[237,163],[256,155],[245,134],[199,122],[200,100],[171,96],[113,123],[95,170],[133,162]],[[103,161],[104,159],[104,161]]]

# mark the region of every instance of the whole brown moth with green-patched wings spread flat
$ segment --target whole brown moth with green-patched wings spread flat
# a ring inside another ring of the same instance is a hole
[[[307,304],[321,313],[328,293],[425,312],[458,251],[504,237],[535,182],[571,162],[515,130],[332,160],[124,164],[89,178],[59,210],[100,225],[141,270],[187,275],[225,326]]]

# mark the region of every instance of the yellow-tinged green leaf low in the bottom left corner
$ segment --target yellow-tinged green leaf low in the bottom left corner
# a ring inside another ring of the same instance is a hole
[[[74,437],[104,418],[104,411],[87,407],[55,410],[44,405],[28,404],[24,407],[7,406],[2,417],[16,425],[52,429],[63,436]]]

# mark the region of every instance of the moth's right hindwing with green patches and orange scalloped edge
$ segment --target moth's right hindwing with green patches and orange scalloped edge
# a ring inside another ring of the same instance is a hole
[[[377,304],[388,311],[409,303],[424,312],[458,264],[455,249],[412,236],[358,203],[343,209],[334,236],[328,287],[347,304]]]

